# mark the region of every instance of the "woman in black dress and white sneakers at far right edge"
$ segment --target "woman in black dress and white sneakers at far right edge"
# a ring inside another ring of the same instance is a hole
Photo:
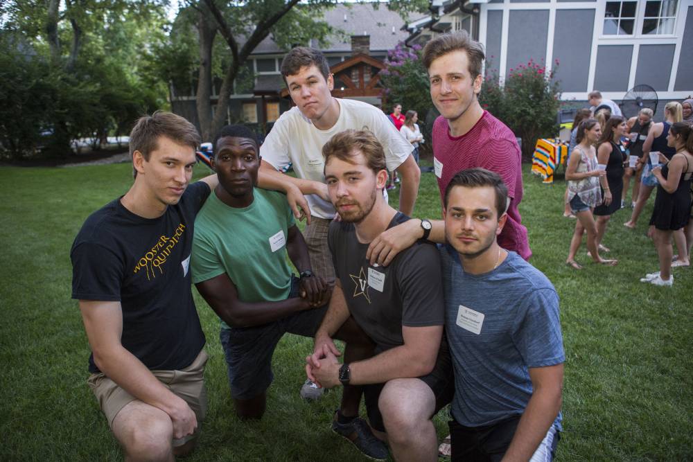
[[[690,224],[693,128],[685,122],[674,123],[667,134],[667,145],[675,150],[671,160],[663,166],[652,167],[652,174],[659,181],[650,219],[650,225],[654,226],[653,240],[659,257],[659,272],[647,274],[640,279],[644,283],[663,286],[674,283],[672,236]],[[680,266],[690,264],[688,255],[682,252],[679,252],[677,261],[682,263]]]

